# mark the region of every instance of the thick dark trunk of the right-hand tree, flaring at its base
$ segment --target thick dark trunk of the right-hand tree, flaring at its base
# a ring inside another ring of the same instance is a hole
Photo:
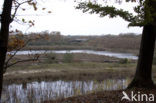
[[[156,38],[156,25],[145,25],[142,33],[139,60],[133,81],[128,88],[154,88],[152,61]]]

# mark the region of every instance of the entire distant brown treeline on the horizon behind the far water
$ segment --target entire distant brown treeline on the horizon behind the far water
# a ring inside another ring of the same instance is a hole
[[[71,49],[138,50],[141,39],[141,35],[133,33],[101,36],[64,36],[60,32],[41,32],[22,35],[24,38],[32,39],[27,44],[28,47],[64,47],[63,49],[70,46]]]

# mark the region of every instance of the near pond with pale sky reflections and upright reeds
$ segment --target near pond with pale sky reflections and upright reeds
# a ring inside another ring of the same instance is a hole
[[[44,100],[64,98],[100,90],[117,90],[127,87],[129,79],[98,81],[51,81],[4,85],[6,103],[40,103]]]

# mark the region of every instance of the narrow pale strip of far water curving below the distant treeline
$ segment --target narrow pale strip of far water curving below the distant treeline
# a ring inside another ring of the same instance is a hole
[[[114,53],[114,52],[108,52],[108,51],[94,51],[94,50],[32,50],[32,51],[19,51],[17,52],[18,55],[27,55],[27,54],[42,54],[42,53],[87,53],[87,54],[95,54],[95,55],[105,55],[110,57],[116,57],[116,58],[128,58],[128,59],[134,59],[136,60],[138,57],[134,56],[130,53]],[[12,52],[13,53],[13,52]]]

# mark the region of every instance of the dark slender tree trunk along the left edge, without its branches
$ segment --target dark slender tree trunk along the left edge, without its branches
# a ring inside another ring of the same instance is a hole
[[[3,69],[9,37],[9,24],[11,22],[11,7],[12,0],[4,0],[3,12],[1,16],[1,30],[0,30],[0,101],[3,86]]]

